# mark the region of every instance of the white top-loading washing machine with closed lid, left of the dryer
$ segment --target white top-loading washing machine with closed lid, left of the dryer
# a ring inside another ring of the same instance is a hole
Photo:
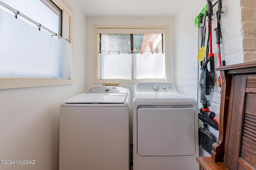
[[[129,103],[126,88],[103,86],[60,107],[60,170],[129,170]]]

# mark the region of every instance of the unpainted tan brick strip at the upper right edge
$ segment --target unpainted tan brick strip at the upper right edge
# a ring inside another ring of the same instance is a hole
[[[256,61],[256,0],[241,0],[244,62]]]

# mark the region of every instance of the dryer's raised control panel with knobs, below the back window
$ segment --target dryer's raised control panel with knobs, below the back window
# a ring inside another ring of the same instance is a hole
[[[134,88],[134,92],[177,92],[172,83],[138,83]]]

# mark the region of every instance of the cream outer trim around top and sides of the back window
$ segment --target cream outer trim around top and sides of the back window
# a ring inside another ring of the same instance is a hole
[[[174,82],[174,32],[173,18],[104,18],[86,17],[86,89],[102,84],[94,84],[94,25],[169,25],[170,39],[170,80]]]

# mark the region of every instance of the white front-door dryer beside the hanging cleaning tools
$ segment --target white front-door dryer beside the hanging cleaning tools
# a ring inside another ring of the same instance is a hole
[[[195,99],[172,83],[138,83],[133,97],[133,169],[199,170]]]

